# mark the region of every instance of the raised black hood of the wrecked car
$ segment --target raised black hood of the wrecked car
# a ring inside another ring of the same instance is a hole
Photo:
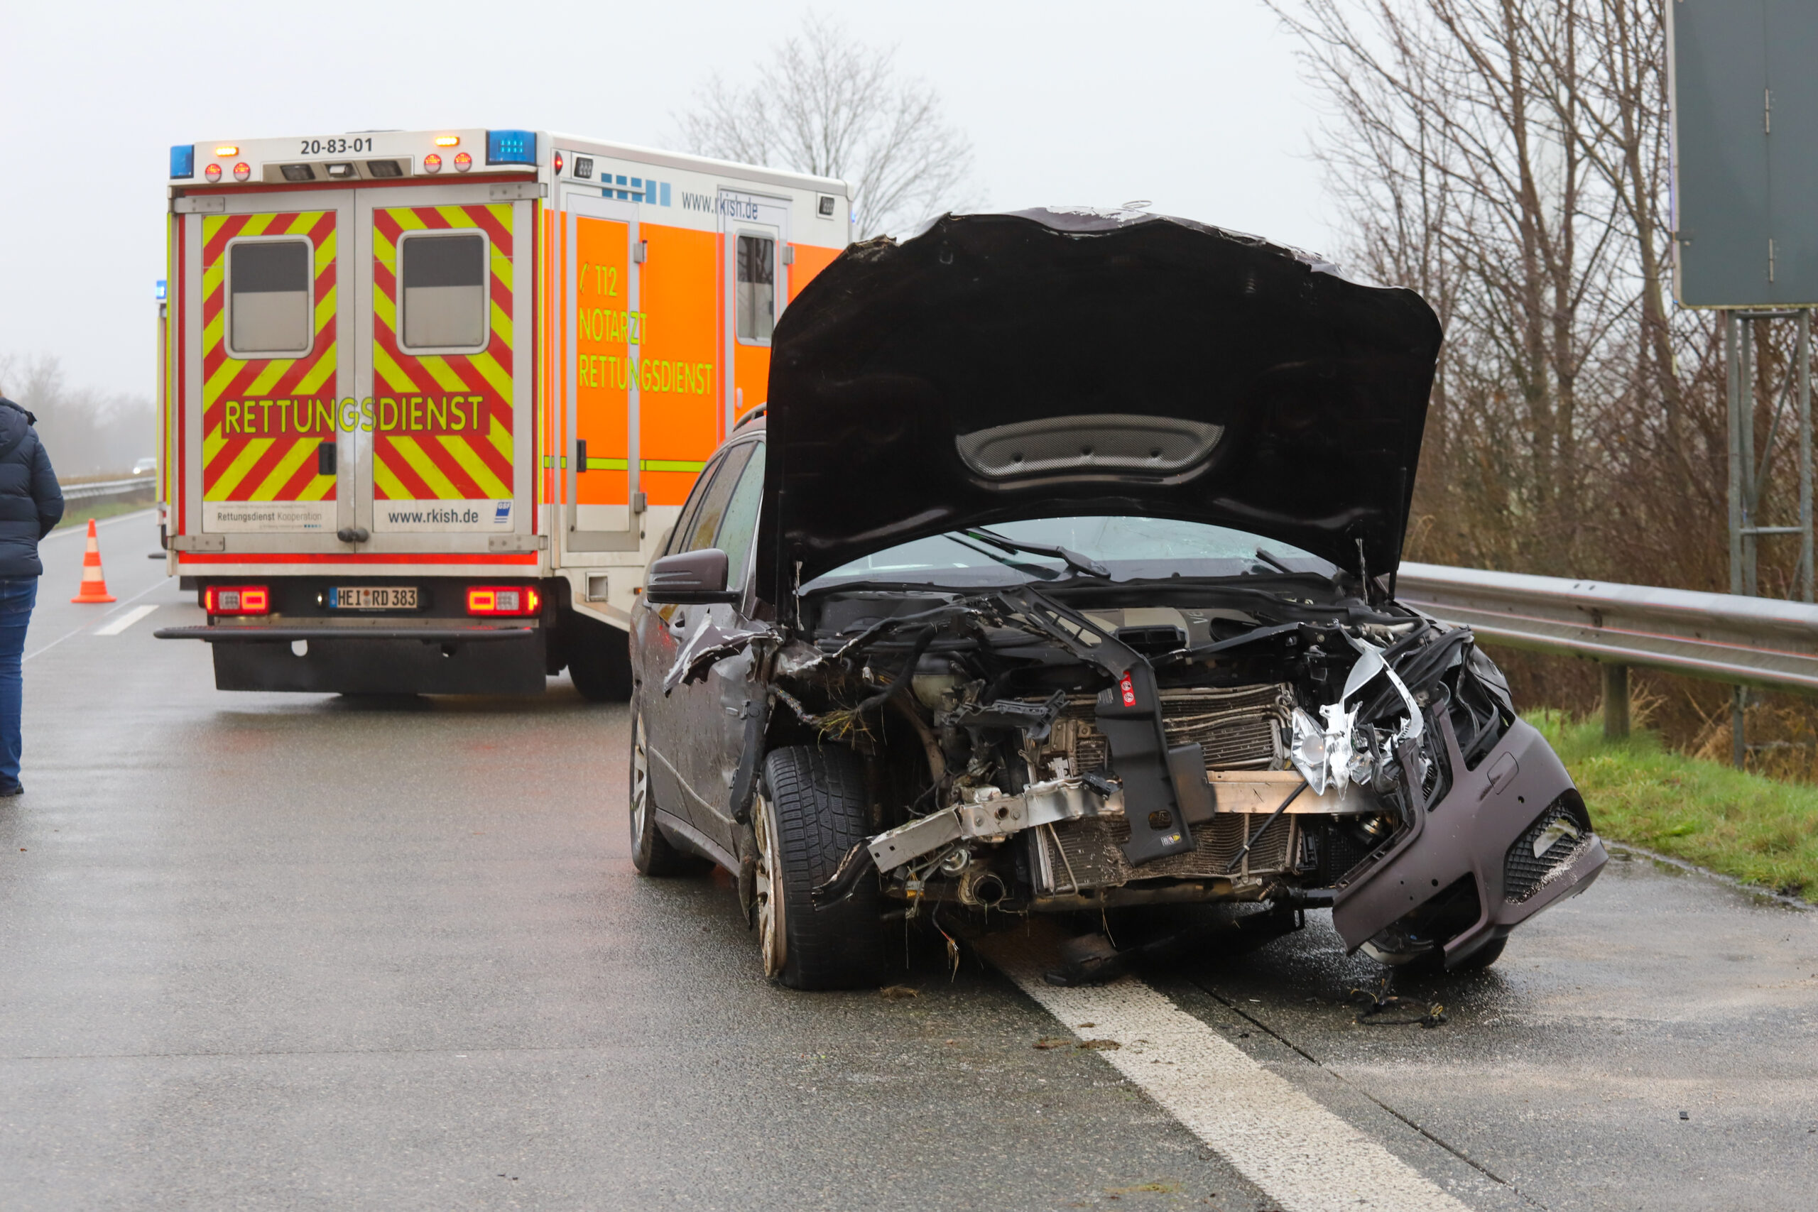
[[[853,245],[776,323],[760,592],[1065,514],[1393,571],[1438,351],[1413,291],[1160,214],[945,216]]]

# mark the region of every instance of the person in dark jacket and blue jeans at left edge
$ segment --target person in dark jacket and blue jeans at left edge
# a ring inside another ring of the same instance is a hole
[[[64,518],[51,456],[33,425],[36,416],[0,396],[0,796],[25,790],[18,781],[20,663],[25,627],[38,603],[38,540]]]

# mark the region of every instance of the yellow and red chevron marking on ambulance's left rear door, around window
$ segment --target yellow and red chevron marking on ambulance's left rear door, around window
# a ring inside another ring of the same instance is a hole
[[[227,242],[309,236],[316,342],[302,358],[227,354]],[[202,220],[202,500],[320,502],[316,447],[335,436],[335,211]]]

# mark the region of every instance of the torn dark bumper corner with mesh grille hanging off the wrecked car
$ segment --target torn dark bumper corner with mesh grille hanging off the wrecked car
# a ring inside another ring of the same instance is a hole
[[[1333,925],[1349,950],[1462,876],[1473,876],[1482,912],[1474,925],[1445,945],[1445,965],[1454,967],[1547,905],[1587,889],[1609,861],[1598,836],[1585,834],[1538,881],[1507,887],[1511,849],[1533,845],[1529,830],[1556,812],[1562,796],[1576,796],[1573,780],[1547,740],[1523,720],[1509,727],[1474,770],[1465,769],[1451,720],[1440,714],[1438,725],[1453,787],[1425,810],[1411,841],[1391,847],[1374,867],[1338,890]],[[1520,874],[1520,863],[1516,870]]]

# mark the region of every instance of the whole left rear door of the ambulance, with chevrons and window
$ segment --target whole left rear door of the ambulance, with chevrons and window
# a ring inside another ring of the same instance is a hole
[[[340,403],[353,191],[178,200],[185,336],[180,529],[187,547],[287,551],[353,522]],[[233,540],[229,536],[253,536]]]

